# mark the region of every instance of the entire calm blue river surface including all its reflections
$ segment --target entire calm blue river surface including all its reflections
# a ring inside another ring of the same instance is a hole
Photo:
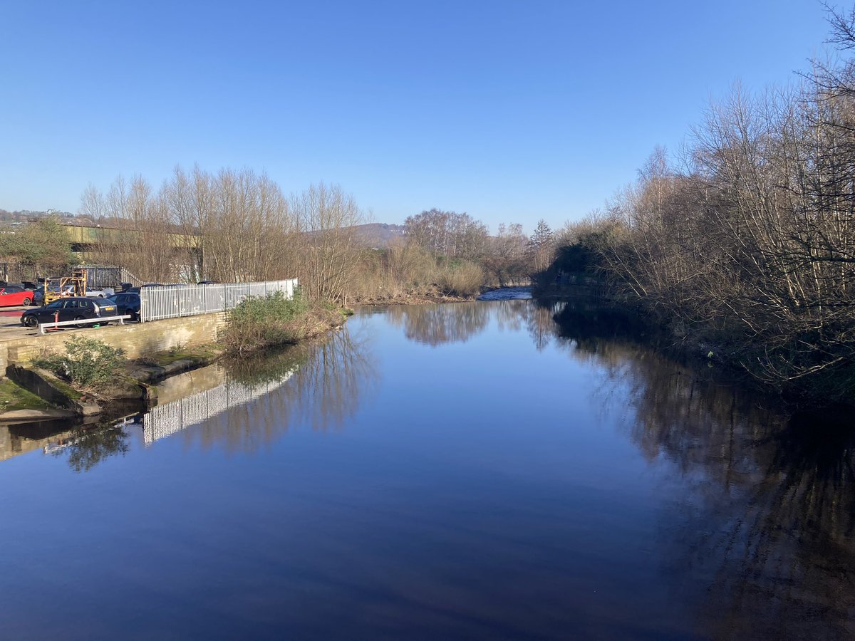
[[[847,638],[852,439],[531,300],[0,428],[0,638]]]

